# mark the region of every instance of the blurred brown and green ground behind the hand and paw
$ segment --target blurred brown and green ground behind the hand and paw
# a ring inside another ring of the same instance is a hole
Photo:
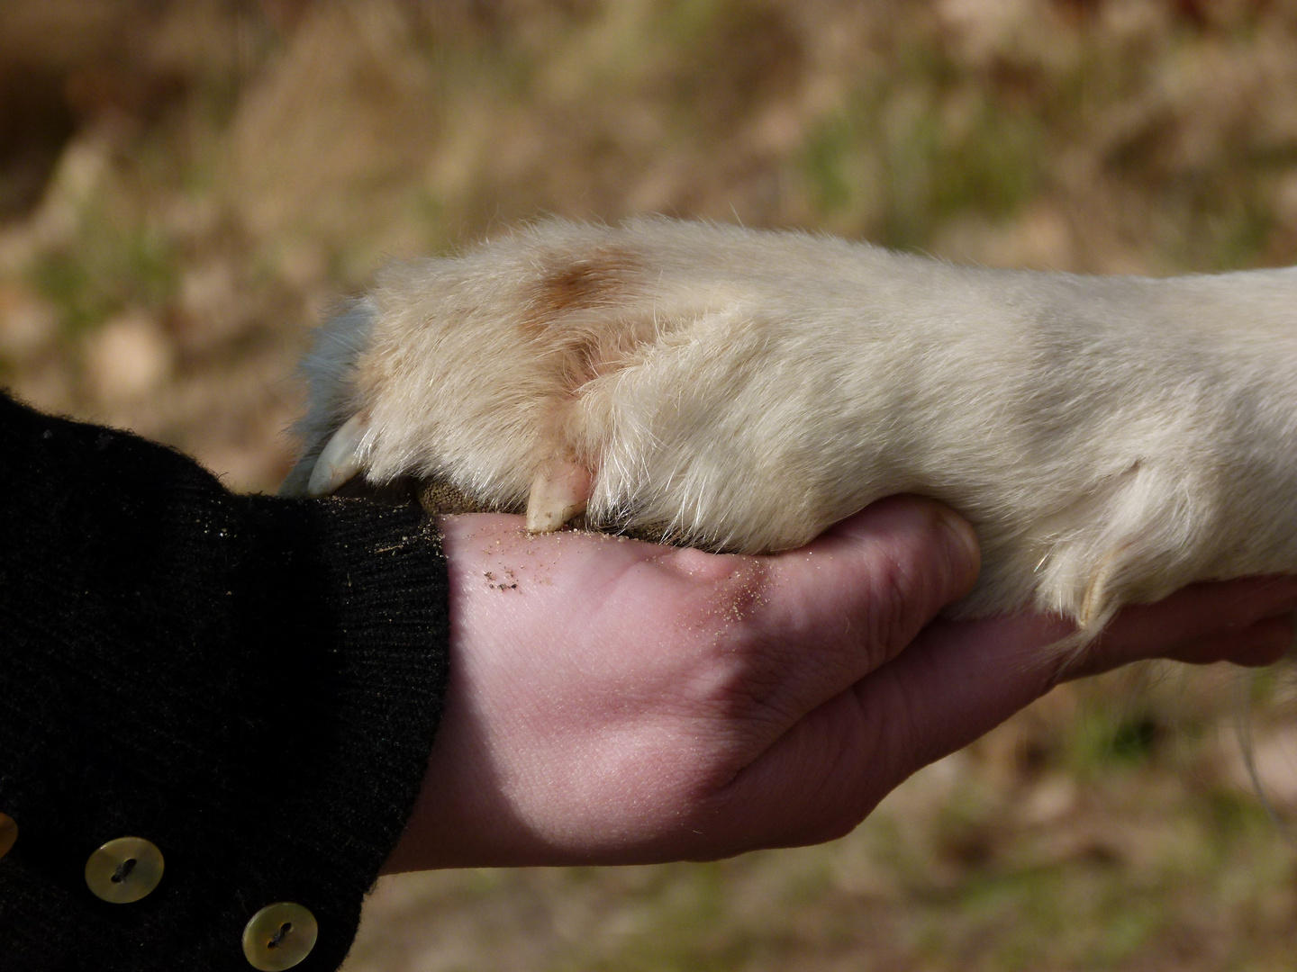
[[[309,329],[543,214],[1297,262],[1294,0],[4,0],[0,384],[274,490]],[[1292,969],[1266,675],[1065,687],[835,844],[388,879],[348,972]]]

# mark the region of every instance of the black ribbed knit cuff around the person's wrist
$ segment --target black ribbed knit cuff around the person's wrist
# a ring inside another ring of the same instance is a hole
[[[320,925],[309,962],[333,968],[414,807],[441,715],[441,538],[415,507],[246,502],[266,552],[249,579],[278,623],[268,638],[249,632],[267,653],[253,734],[265,752],[245,792],[265,798],[240,814],[257,840],[240,866],[246,906],[230,918],[241,928],[266,903],[305,905]]]

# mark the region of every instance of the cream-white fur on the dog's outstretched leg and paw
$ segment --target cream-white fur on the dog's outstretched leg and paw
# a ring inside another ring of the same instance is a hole
[[[572,456],[591,524],[717,550],[935,496],[982,542],[964,614],[1035,605],[1093,632],[1192,581],[1297,572],[1297,268],[1086,277],[549,222],[389,270],[306,371],[289,494],[361,413],[374,482],[519,509]]]

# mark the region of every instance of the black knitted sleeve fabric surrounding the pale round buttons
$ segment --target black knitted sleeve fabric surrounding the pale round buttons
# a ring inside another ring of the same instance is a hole
[[[185,456],[0,395],[0,969],[231,969],[272,902],[337,967],[446,682],[418,509],[236,496]],[[101,844],[165,857],[106,903]]]

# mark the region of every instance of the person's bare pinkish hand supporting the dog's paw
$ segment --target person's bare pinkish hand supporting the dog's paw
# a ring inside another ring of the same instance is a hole
[[[934,619],[973,586],[977,542],[910,496],[769,557],[441,526],[451,682],[387,874],[831,840],[1060,682],[1152,657],[1267,665],[1297,608],[1293,577],[1195,584],[1049,653],[1058,618]]]

